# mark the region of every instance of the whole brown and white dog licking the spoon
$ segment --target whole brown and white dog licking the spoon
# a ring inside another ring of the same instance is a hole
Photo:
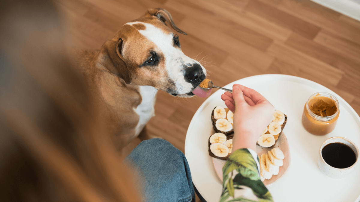
[[[154,116],[157,90],[192,97],[206,70],[181,51],[177,28],[165,9],[152,8],[122,26],[100,50],[81,51],[78,61],[118,151]]]

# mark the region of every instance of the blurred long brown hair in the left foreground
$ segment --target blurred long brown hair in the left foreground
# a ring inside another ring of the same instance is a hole
[[[57,13],[0,2],[0,201],[139,201]]]

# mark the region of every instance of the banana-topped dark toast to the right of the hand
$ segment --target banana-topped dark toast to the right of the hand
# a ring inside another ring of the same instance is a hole
[[[272,147],[278,142],[288,118],[280,110],[275,110],[273,121],[266,127],[262,135],[257,140],[257,145],[261,147]]]

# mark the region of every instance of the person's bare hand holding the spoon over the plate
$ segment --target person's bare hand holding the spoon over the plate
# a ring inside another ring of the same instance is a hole
[[[265,127],[273,120],[274,106],[264,96],[251,88],[234,84],[233,93],[221,95],[225,105],[234,113],[233,151],[251,148]]]

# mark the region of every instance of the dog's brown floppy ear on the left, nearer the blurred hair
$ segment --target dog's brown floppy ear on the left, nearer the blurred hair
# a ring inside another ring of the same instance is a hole
[[[126,84],[131,83],[131,72],[121,56],[122,39],[106,41],[101,47],[103,65],[118,77],[124,79]]]

